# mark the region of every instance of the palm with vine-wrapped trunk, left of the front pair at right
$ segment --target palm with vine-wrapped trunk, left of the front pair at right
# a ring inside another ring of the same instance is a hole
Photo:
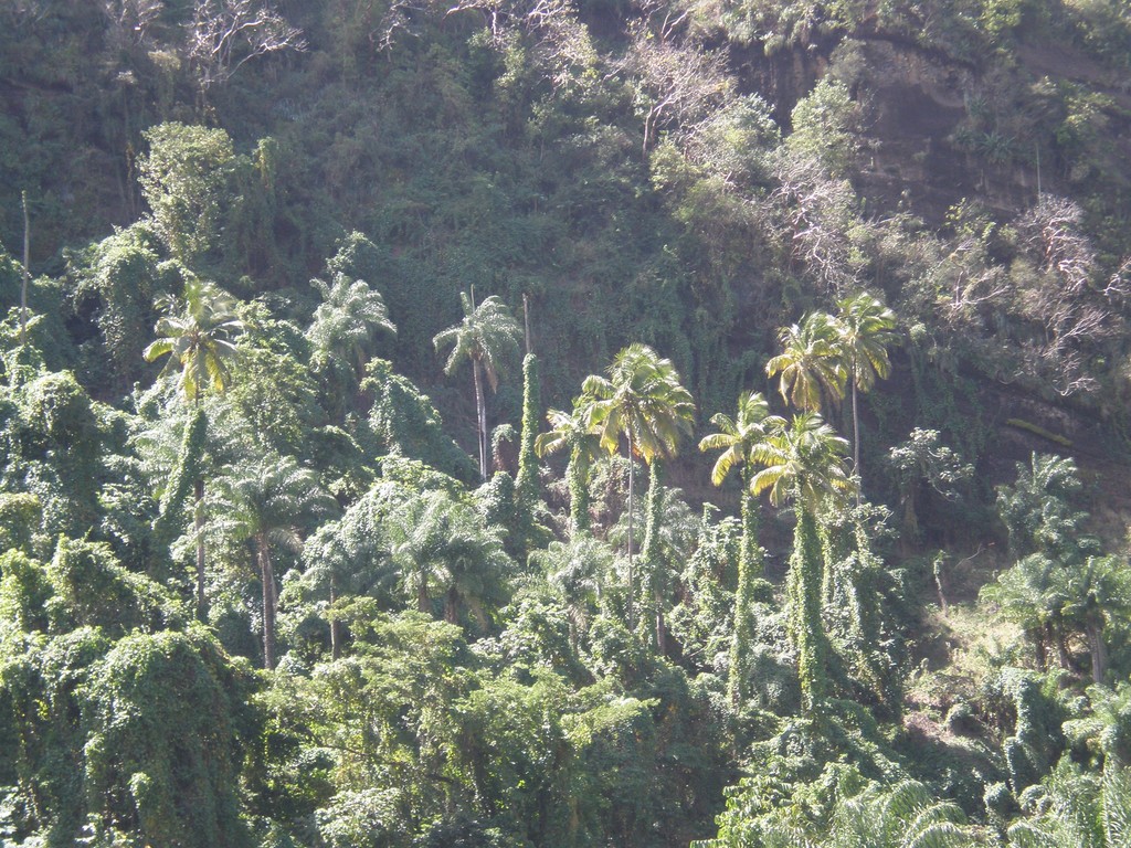
[[[739,396],[739,412],[733,419],[718,413],[710,421],[718,427],[718,432],[705,436],[699,442],[699,450],[723,451],[711,470],[711,483],[720,486],[732,468],[742,469],[742,543],[739,548],[739,586],[734,597],[731,674],[727,682],[731,706],[737,709],[744,695],[742,672],[750,644],[750,605],[754,580],[761,577],[757,504],[750,488],[754,469],[753,453],[767,438],[785,427],[785,419],[770,415],[769,404],[761,392],[744,391]]]

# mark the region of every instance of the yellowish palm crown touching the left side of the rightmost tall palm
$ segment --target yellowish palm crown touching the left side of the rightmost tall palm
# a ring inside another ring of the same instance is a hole
[[[766,363],[766,375],[780,373],[779,391],[793,406],[809,412],[845,396],[847,372],[840,356],[837,323],[831,315],[813,312],[800,325],[778,331],[782,353]]]

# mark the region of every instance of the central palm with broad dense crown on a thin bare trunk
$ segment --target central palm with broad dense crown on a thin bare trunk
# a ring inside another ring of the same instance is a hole
[[[601,435],[610,453],[628,440],[629,457],[629,625],[632,626],[632,514],[634,503],[633,457],[649,466],[657,458],[674,456],[681,433],[690,433],[694,416],[691,392],[680,384],[670,360],[647,345],[625,347],[613,360],[608,378],[590,374],[581,384],[586,424]]]

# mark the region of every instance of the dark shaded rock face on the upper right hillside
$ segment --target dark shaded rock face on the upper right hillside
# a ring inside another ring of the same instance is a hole
[[[961,61],[871,32],[769,57],[733,50],[732,67],[784,127],[824,73],[852,85],[865,114],[854,183],[878,215],[903,209],[935,225],[965,198],[1012,216],[1039,191],[1074,194],[1097,179],[1131,185],[1120,166],[1131,158],[1131,79],[1064,44],[1022,44],[1016,57]],[[1097,97],[1082,150],[1064,137],[1074,92]]]

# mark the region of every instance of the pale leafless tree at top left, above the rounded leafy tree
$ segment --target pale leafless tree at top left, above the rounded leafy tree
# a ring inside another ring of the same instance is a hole
[[[257,0],[197,0],[188,27],[189,61],[201,90],[227,81],[256,57],[305,49],[302,31]]]

